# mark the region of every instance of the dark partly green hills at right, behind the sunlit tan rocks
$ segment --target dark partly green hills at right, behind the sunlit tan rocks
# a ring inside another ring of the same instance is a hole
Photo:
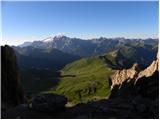
[[[113,65],[119,68],[129,68],[134,63],[138,63],[142,68],[145,68],[156,58],[157,51],[158,47],[156,45],[140,46],[128,43],[116,46],[112,51],[101,55],[101,57],[107,57]]]

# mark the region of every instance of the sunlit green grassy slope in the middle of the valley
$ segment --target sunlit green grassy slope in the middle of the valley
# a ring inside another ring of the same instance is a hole
[[[68,64],[61,71],[61,81],[56,90],[70,102],[87,102],[109,96],[108,78],[113,70],[100,57],[83,58]]]

